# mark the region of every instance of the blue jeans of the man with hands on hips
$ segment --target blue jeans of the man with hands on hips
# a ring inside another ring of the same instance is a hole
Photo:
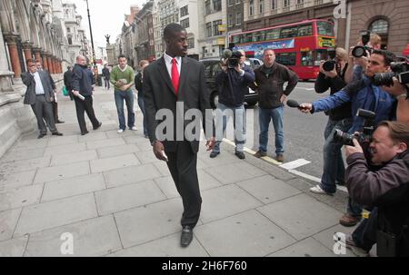
[[[259,123],[260,123],[260,136],[259,150],[261,152],[267,152],[268,144],[268,128],[270,126],[270,121],[273,119],[274,132],[275,132],[275,153],[284,153],[284,130],[283,130],[283,114],[284,105],[274,109],[263,109],[259,110]]]

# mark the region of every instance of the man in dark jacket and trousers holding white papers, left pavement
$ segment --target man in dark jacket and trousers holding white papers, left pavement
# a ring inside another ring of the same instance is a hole
[[[95,117],[93,107],[92,79],[89,77],[89,71],[86,65],[86,59],[83,55],[76,57],[76,64],[73,71],[73,81],[71,82],[73,94],[75,95],[76,117],[81,130],[81,135],[88,133],[86,130],[84,112],[88,115],[94,130],[101,127],[102,123],[98,122]]]

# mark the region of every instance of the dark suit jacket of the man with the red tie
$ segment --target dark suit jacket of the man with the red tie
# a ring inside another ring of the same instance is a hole
[[[205,117],[205,110],[211,110],[211,107],[205,83],[205,67],[203,64],[189,57],[182,58],[179,93],[178,98],[176,98],[170,75],[166,70],[165,59],[162,57],[145,68],[143,89],[147,128],[151,142],[158,140],[155,135],[156,128],[158,124],[165,120],[155,119],[156,112],[161,109],[168,109],[174,114],[173,126],[176,137],[176,102],[183,102],[185,104],[184,113],[189,109],[200,110],[206,137],[214,136],[213,117]],[[184,120],[184,126],[189,123],[191,123],[190,120]],[[206,125],[212,125],[212,129],[206,129]],[[166,152],[176,151],[175,137],[174,141],[160,141],[164,143]],[[193,152],[198,152],[199,141],[191,142],[191,146]]]

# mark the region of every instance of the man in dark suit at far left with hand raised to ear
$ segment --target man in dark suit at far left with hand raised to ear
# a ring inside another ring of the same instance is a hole
[[[35,61],[32,59],[27,60],[27,67],[28,72],[21,75],[23,83],[27,86],[25,104],[31,105],[35,113],[38,129],[40,130],[38,138],[41,139],[47,134],[45,122],[53,135],[63,135],[55,127],[53,106],[51,104],[55,98],[49,75],[45,72],[37,71]]]

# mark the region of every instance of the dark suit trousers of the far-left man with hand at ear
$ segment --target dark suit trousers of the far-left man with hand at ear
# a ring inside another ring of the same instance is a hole
[[[37,95],[35,98],[35,104],[31,105],[33,112],[35,113],[35,118],[37,119],[38,129],[41,134],[47,133],[47,126],[51,133],[57,132],[55,127],[55,121],[53,117],[53,106],[52,103],[48,103],[45,100],[45,95]]]

